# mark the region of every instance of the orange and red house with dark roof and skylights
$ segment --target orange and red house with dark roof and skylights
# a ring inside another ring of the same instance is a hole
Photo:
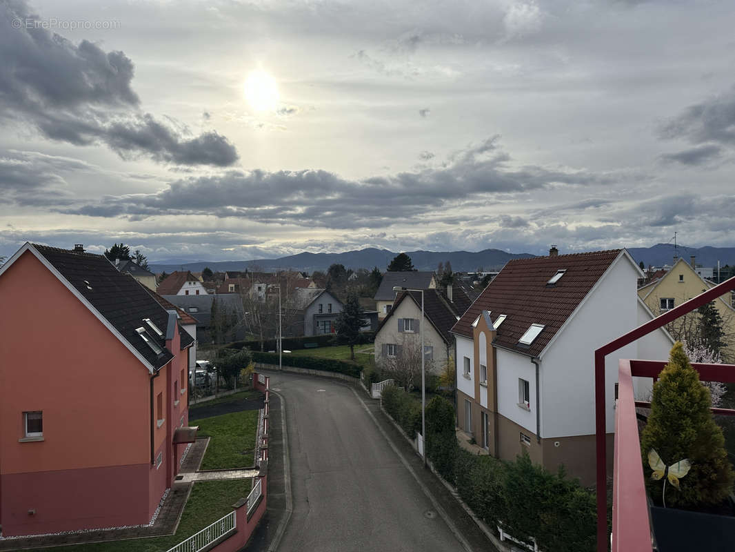
[[[149,523],[196,433],[176,312],[103,255],[29,243],[0,303],[3,536]]]

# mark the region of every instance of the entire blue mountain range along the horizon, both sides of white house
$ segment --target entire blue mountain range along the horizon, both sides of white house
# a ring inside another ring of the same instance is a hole
[[[628,249],[636,262],[643,261],[645,266],[662,266],[671,264],[674,255],[686,258],[695,255],[696,262],[702,266],[717,266],[717,261],[725,264],[735,263],[735,247],[675,247],[673,244],[656,244],[652,247],[631,247]],[[564,254],[564,251],[560,251]],[[150,263],[152,272],[173,272],[174,270],[191,270],[201,272],[205,266],[213,271],[224,270],[260,270],[272,272],[279,269],[294,269],[304,272],[315,270],[326,271],[331,264],[340,263],[348,269],[372,269],[377,266],[385,270],[397,252],[368,247],[364,250],[345,251],[342,253],[309,253],[275,259],[256,259],[254,261],[196,261],[185,262],[184,259]],[[406,251],[413,265],[419,270],[435,270],[439,263],[451,263],[452,269],[459,272],[474,272],[478,269],[499,270],[511,259],[530,258],[530,253],[509,253],[503,250],[470,251]],[[171,262],[173,261],[173,262]],[[182,261],[182,262],[176,262]]]

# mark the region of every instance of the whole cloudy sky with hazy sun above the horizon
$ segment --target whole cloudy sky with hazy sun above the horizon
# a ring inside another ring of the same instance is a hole
[[[735,4],[0,0],[0,255],[734,245]]]

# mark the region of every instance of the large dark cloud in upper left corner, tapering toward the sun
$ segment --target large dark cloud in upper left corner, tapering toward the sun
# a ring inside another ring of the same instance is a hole
[[[0,4],[0,118],[32,124],[46,138],[78,146],[107,144],[123,158],[140,155],[187,165],[230,166],[237,150],[217,132],[185,128],[140,113],[123,52],[79,45],[46,29],[12,28],[35,20],[23,1]]]

